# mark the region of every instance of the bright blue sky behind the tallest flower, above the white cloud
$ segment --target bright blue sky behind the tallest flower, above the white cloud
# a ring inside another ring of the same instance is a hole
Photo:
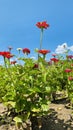
[[[40,29],[35,24],[47,21],[43,46],[54,52],[66,42],[73,45],[73,0],[0,0],[0,51],[13,47],[29,48],[31,56],[39,48]]]

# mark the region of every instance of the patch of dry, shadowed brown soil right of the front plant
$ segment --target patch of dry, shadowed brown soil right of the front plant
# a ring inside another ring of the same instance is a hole
[[[52,103],[42,130],[73,130],[73,110],[69,105],[66,99]]]

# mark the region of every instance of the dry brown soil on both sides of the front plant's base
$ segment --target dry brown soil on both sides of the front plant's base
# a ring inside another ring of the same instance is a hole
[[[0,130],[17,130],[11,118],[2,120],[6,108],[0,103]],[[5,118],[5,117],[4,117]],[[50,104],[50,113],[42,118],[42,130],[73,130],[73,109],[66,99],[59,99]],[[31,128],[18,130],[31,130]]]

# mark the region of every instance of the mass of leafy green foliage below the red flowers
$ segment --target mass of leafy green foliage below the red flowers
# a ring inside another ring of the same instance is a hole
[[[31,116],[43,116],[49,112],[51,96],[57,91],[67,91],[73,104],[73,81],[68,80],[73,71],[66,73],[66,68],[73,68],[73,60],[60,60],[48,65],[44,58],[38,60],[20,58],[24,64],[11,65],[9,61],[0,66],[0,99],[14,110],[13,120],[22,123]],[[38,67],[34,67],[38,64]]]

